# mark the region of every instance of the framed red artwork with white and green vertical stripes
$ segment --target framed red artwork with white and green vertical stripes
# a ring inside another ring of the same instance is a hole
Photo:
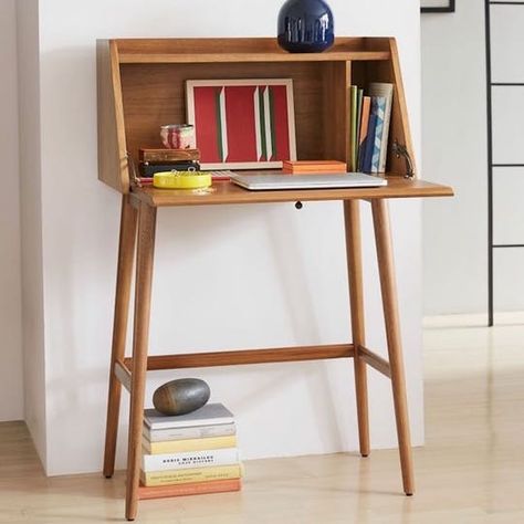
[[[189,80],[186,98],[202,169],[281,168],[296,160],[291,78]]]

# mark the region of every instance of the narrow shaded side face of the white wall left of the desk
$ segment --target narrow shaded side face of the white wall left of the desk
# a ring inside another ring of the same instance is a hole
[[[14,21],[13,21],[14,22]],[[17,1],[24,418],[46,461],[38,0]]]

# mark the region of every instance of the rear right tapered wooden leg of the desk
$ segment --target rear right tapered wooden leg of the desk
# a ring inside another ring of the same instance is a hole
[[[355,391],[357,400],[358,438],[360,454],[369,454],[369,418],[367,400],[366,363],[360,358],[358,347],[365,345],[363,261],[360,242],[360,203],[358,200],[344,201],[346,228],[347,271],[349,302],[352,306],[352,334],[355,345]]]

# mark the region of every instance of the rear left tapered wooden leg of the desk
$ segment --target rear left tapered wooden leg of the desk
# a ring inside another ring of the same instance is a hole
[[[109,394],[105,431],[104,475],[108,479],[115,471],[116,437],[120,410],[122,385],[115,377],[115,361],[124,358],[126,348],[127,319],[133,276],[136,239],[136,209],[129,197],[122,198],[120,239],[118,245],[118,269],[116,275],[115,316],[113,323],[113,345],[109,366]]]

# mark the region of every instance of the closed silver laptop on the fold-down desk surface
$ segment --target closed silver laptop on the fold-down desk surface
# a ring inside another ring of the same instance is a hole
[[[336,189],[370,188],[387,186],[385,178],[364,172],[340,172],[335,175],[283,175],[283,174],[232,174],[231,181],[253,191],[269,189]]]

